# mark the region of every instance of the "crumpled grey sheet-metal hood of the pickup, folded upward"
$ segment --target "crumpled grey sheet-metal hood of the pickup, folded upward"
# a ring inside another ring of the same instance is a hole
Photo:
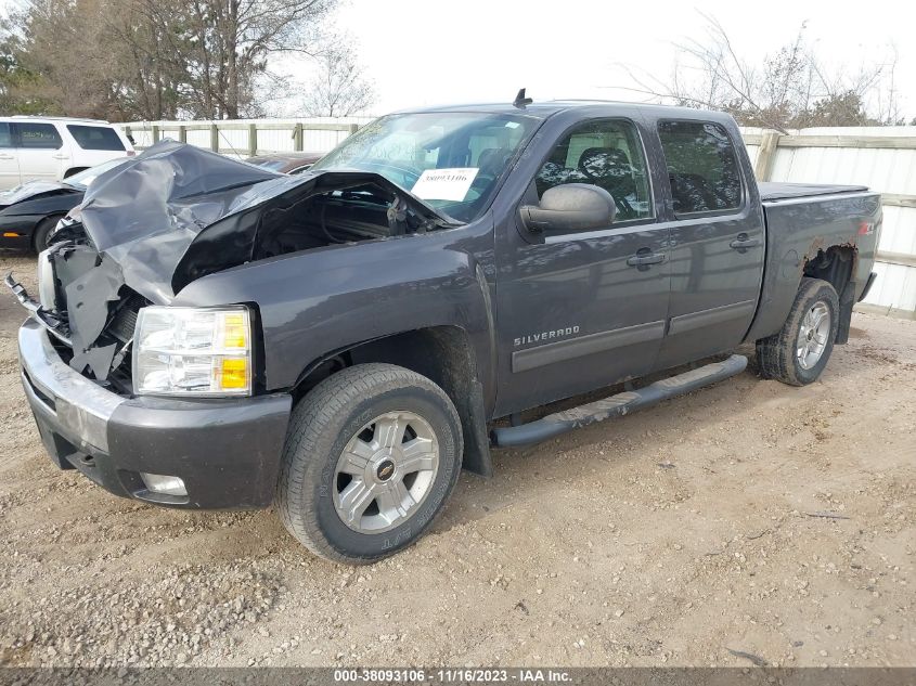
[[[52,318],[55,323],[46,325],[57,334],[63,322],[73,347],[70,366],[103,380],[129,346],[105,333],[129,300],[125,285],[168,305],[195,279],[255,259],[258,231],[271,209],[282,215],[311,195],[367,185],[392,198],[387,209],[392,226],[408,219],[417,230],[454,224],[376,173],[279,174],[164,141],[96,177],[82,204],[63,220],[42,255],[65,309],[42,309],[37,316]]]

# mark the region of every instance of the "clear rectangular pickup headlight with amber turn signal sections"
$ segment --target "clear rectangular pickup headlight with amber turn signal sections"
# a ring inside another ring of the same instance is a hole
[[[133,391],[250,396],[247,308],[142,308],[133,335]]]

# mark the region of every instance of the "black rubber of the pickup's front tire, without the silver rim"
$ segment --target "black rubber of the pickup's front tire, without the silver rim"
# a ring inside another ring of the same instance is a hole
[[[380,533],[356,531],[335,506],[337,461],[363,427],[392,412],[413,413],[435,431],[438,468],[404,522]],[[276,509],[289,533],[315,555],[370,564],[410,545],[429,527],[457,482],[462,453],[461,419],[436,384],[392,364],[348,367],[315,386],[293,410]]]

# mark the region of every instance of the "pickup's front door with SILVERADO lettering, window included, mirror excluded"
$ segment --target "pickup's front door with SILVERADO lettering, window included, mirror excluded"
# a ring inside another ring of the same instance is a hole
[[[595,184],[615,199],[611,224],[538,240],[515,212],[498,231],[498,416],[647,374],[656,362],[671,287],[669,230],[656,215],[640,127],[620,118],[573,127],[522,199],[538,204],[563,183]]]

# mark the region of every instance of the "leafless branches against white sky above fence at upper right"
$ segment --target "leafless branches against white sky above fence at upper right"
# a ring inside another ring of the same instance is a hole
[[[902,122],[889,62],[857,69],[828,70],[805,40],[805,23],[795,39],[758,62],[743,59],[725,28],[702,14],[706,38],[678,43],[669,78],[624,66],[650,99],[731,113],[745,126],[785,132],[810,126],[866,126]],[[866,112],[874,105],[874,114]]]

